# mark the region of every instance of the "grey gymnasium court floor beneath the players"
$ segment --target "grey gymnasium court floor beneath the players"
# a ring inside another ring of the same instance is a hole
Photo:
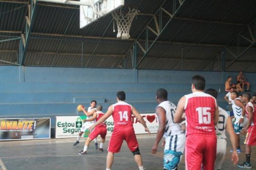
[[[159,144],[159,152],[156,155],[151,154],[155,136],[156,134],[137,136],[146,170],[162,170],[163,167],[163,147]],[[102,153],[93,149],[94,142],[92,142],[87,155],[78,154],[83,149],[84,139],[81,139],[78,146],[73,147],[75,140],[73,138],[0,142],[0,170],[105,170],[109,140],[107,139],[103,146],[105,151]],[[231,164],[230,142],[227,141],[227,155],[222,170],[238,170],[238,167]],[[245,157],[245,146],[241,145],[241,148],[243,152],[239,154],[239,163],[243,162]],[[252,170],[256,170],[256,147],[252,147],[252,151]],[[111,170],[137,169],[133,155],[124,142],[121,152],[115,154]],[[184,169],[183,157],[179,170]]]

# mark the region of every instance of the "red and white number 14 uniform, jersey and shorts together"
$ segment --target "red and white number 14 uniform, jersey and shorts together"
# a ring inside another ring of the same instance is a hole
[[[133,123],[131,120],[132,106],[126,102],[117,102],[113,106],[114,130],[109,141],[108,151],[117,153],[120,151],[122,142],[125,140],[129,149],[133,152],[137,150],[139,144],[135,136]]]

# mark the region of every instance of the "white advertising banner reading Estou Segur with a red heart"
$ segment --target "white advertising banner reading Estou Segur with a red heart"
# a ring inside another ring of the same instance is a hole
[[[157,133],[158,129],[158,118],[155,113],[146,113],[141,114],[145,120],[148,129],[151,133]],[[81,131],[80,128],[83,124],[83,119],[86,116],[56,116],[56,129],[55,129],[55,138],[73,138],[77,137],[78,133]],[[135,134],[145,134],[143,125],[140,124],[140,121],[132,116],[132,122],[135,130]],[[110,116],[106,121],[107,125],[107,136],[111,136],[113,132],[114,122],[113,117]],[[87,137],[90,134],[89,130],[86,130],[84,137]]]

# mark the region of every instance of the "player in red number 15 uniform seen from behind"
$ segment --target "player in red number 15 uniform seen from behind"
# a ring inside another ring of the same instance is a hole
[[[174,122],[180,123],[182,114],[186,115],[186,170],[214,170],[218,105],[214,97],[204,93],[203,76],[192,77],[191,88],[193,93],[180,99],[174,116]]]

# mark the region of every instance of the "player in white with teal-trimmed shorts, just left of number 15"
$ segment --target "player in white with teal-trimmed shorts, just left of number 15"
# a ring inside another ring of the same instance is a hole
[[[163,156],[164,169],[176,170],[184,152],[186,136],[180,125],[173,121],[176,106],[167,100],[167,91],[165,89],[160,88],[157,90],[157,102],[159,103],[156,107],[159,128],[155,144],[152,147],[152,153],[156,153],[157,145],[164,135],[166,138]]]

